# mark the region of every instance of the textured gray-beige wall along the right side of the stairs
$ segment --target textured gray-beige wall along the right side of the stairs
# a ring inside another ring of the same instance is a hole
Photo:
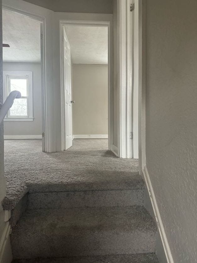
[[[197,1],[146,5],[146,165],[174,262],[197,262]]]

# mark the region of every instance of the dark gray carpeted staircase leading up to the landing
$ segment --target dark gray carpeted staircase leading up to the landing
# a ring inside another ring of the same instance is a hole
[[[110,154],[106,158],[114,161]],[[96,175],[83,185],[59,180],[46,185],[40,179],[39,185],[26,184],[17,204],[17,196],[5,198],[5,209],[15,206],[13,262],[158,263],[157,229],[143,206],[143,180],[136,171],[109,176],[96,181]]]

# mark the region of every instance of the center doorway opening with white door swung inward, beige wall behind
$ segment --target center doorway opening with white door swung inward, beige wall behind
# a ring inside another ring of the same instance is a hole
[[[109,27],[60,26],[62,150],[82,138],[102,139],[110,149]]]

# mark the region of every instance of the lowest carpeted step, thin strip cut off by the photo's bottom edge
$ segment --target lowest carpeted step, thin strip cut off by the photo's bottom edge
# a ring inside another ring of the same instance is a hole
[[[154,253],[13,260],[12,263],[159,263]]]

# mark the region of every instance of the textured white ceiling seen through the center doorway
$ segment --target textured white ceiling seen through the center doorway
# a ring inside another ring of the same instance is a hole
[[[108,64],[107,27],[65,26],[74,64]]]

